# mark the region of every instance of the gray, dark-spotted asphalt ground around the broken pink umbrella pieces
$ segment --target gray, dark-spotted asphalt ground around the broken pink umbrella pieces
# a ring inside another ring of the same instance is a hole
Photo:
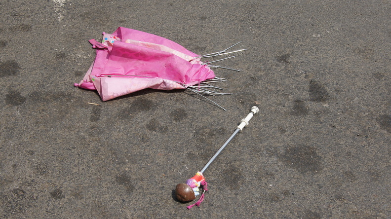
[[[1,1],[0,217],[391,218],[390,15],[390,0]],[[74,87],[88,40],[119,26],[197,54],[242,41],[221,63],[241,72],[215,70],[227,111]],[[186,209],[175,185],[254,105]]]

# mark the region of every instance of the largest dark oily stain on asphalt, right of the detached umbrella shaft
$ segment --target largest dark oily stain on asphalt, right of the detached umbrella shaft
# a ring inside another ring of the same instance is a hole
[[[286,165],[303,174],[321,170],[321,157],[312,146],[287,146],[280,158]]]

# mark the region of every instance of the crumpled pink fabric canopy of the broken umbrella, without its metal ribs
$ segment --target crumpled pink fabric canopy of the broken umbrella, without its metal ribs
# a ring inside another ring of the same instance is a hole
[[[119,27],[103,33],[102,43],[90,40],[96,58],[75,86],[97,90],[102,101],[145,88],[184,89],[215,77],[198,55],[176,42]]]

